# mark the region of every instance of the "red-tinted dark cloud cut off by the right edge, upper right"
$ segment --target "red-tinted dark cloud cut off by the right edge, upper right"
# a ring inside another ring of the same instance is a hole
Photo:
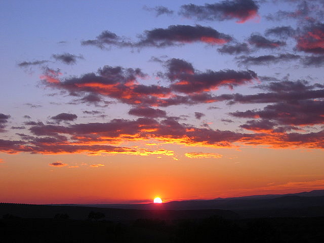
[[[299,51],[324,54],[324,24],[311,24],[296,37]]]

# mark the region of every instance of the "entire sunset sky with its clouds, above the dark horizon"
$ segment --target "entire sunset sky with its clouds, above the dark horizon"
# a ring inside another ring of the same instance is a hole
[[[0,201],[324,189],[323,10],[0,1]]]

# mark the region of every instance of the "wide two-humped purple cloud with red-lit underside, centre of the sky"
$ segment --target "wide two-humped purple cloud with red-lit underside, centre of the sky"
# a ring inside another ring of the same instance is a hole
[[[165,62],[168,71],[161,73],[160,78],[170,81],[169,87],[159,85],[142,85],[144,74],[139,68],[123,68],[120,66],[104,66],[97,73],[86,73],[80,77],[68,77],[64,80],[43,79],[47,87],[68,91],[73,97],[78,96],[74,102],[104,102],[104,97],[117,99],[120,102],[141,105],[161,106],[179,104],[210,103],[218,101],[207,92],[219,87],[229,87],[251,83],[257,80],[257,74],[251,70],[234,71],[221,70],[200,72],[195,70],[191,63],[182,59],[170,59]],[[177,93],[190,94],[181,96]],[[222,97],[218,97],[224,100]]]

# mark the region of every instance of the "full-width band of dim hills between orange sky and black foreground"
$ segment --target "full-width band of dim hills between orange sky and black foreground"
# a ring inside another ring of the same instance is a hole
[[[164,220],[201,219],[212,215],[218,215],[226,219],[316,217],[324,216],[324,190],[284,195],[170,201],[164,204],[0,204],[0,217],[11,214],[22,218],[53,218],[56,214],[68,214],[71,219],[86,219],[91,211],[104,213],[106,219],[113,221],[140,218]]]

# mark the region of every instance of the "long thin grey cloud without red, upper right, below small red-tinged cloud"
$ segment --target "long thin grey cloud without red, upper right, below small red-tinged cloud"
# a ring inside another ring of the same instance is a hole
[[[253,56],[240,56],[236,57],[236,60],[240,65],[269,65],[279,62],[289,62],[294,60],[299,60],[301,56],[295,54],[280,54],[277,56],[274,55],[264,55],[259,57]]]

